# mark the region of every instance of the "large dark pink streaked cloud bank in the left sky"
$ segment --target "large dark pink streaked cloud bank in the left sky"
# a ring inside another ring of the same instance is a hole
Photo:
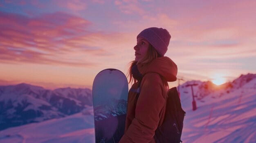
[[[90,32],[91,22],[70,14],[57,12],[29,18],[0,12],[0,21],[2,62],[89,66],[94,63],[82,55],[108,53],[101,45],[93,44],[95,38],[107,35]]]

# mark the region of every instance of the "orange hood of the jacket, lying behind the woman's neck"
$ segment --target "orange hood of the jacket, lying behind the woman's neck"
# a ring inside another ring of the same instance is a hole
[[[169,57],[157,57],[149,64],[138,64],[139,72],[142,75],[154,72],[162,75],[168,82],[177,80],[177,65]]]

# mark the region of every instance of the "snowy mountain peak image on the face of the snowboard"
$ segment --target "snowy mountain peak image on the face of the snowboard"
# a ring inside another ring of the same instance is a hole
[[[115,117],[117,115],[126,114],[127,110],[127,101],[121,99],[110,99],[106,104],[97,106],[94,108],[95,120],[99,121],[102,119]]]

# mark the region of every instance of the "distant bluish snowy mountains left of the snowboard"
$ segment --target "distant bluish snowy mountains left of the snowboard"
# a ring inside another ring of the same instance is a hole
[[[29,84],[0,86],[0,130],[65,117],[92,106],[89,89],[46,90]]]

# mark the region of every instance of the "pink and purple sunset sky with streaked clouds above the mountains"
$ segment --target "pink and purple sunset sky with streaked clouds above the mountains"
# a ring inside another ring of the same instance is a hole
[[[256,73],[255,7],[255,0],[2,0],[0,84],[92,88],[105,68],[126,73],[136,36],[148,27],[171,33],[166,56],[178,77],[232,81]]]

